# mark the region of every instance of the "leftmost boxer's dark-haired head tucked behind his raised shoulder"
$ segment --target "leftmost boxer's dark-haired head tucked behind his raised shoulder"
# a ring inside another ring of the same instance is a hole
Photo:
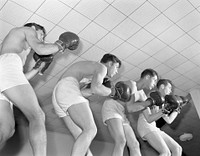
[[[43,26],[36,23],[26,23],[24,27],[33,27],[37,32],[37,38],[40,41],[44,41],[44,38],[46,36],[46,30]]]

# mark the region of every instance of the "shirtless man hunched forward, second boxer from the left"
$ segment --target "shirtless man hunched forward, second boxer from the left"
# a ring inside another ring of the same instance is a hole
[[[71,156],[92,155],[88,149],[97,128],[85,97],[110,95],[112,89],[105,87],[103,80],[117,74],[120,66],[121,61],[112,54],[105,54],[100,62],[80,61],[72,64],[55,86],[52,97],[55,112],[75,139]],[[91,78],[91,87],[80,90],[84,78]]]

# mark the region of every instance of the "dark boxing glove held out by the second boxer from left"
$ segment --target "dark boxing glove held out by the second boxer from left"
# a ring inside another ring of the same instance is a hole
[[[111,88],[112,93],[110,95],[114,100],[120,100],[122,102],[128,102],[131,99],[131,88],[124,82],[119,81]]]

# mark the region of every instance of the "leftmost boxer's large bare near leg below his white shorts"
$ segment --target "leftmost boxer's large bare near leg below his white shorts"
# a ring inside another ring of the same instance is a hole
[[[34,156],[46,156],[45,115],[30,84],[19,85],[3,92],[27,117],[30,144]]]

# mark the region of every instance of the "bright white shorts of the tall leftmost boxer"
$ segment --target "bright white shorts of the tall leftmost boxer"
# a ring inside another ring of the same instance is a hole
[[[22,84],[29,84],[23,73],[19,55],[7,53],[0,55],[0,92]]]

